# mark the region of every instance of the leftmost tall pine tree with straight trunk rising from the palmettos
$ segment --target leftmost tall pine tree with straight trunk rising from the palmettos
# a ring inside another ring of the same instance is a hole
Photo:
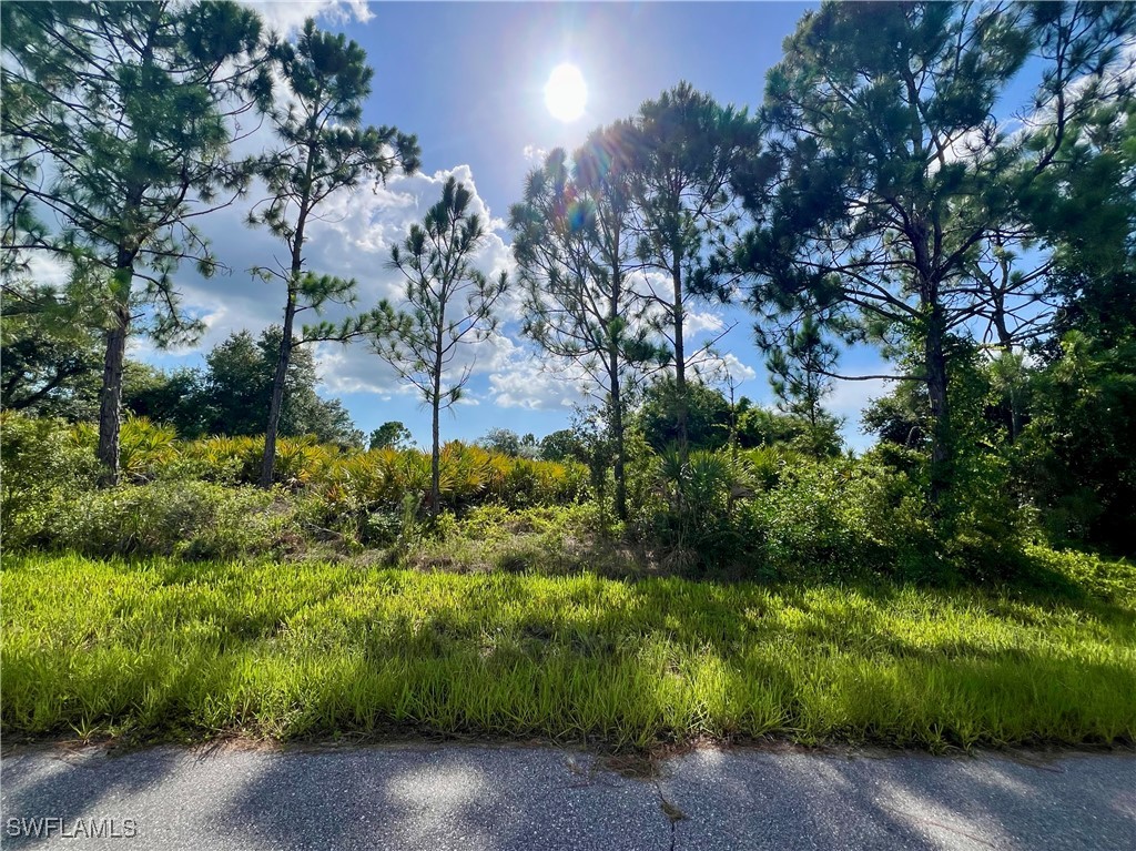
[[[201,331],[173,275],[183,259],[216,272],[193,223],[251,178],[228,145],[237,116],[270,99],[261,22],[227,1],[99,1],[9,3],[2,26],[5,242],[30,239],[23,248],[95,282],[107,331],[99,459],[114,483],[127,336],[140,316],[159,344]]]

